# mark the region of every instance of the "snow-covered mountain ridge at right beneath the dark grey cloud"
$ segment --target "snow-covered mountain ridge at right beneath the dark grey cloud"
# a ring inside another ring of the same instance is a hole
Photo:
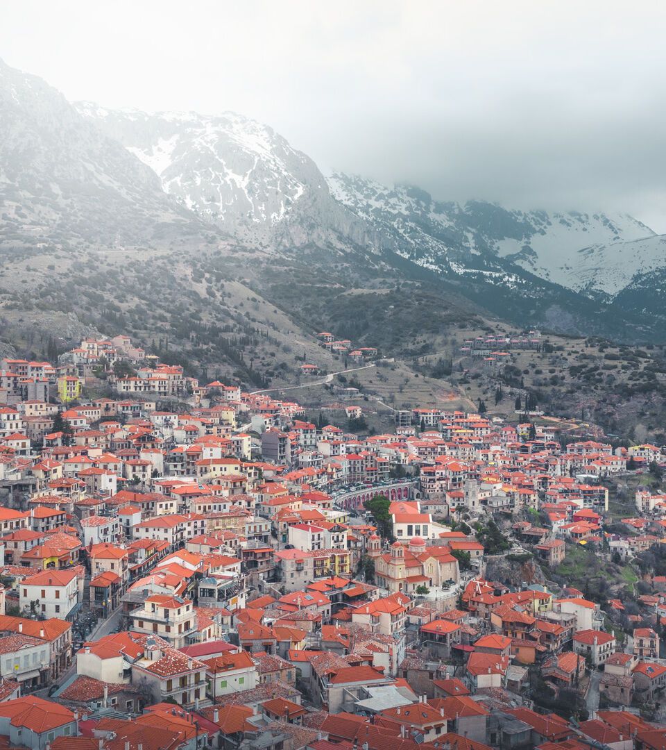
[[[340,202],[402,241],[401,254],[440,272],[503,259],[563,287],[614,296],[636,274],[666,266],[666,238],[628,214],[509,211],[344,174],[328,181]]]

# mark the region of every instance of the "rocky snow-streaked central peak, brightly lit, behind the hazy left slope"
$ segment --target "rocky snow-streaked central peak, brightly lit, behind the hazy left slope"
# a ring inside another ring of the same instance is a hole
[[[76,107],[150,166],[166,193],[237,239],[303,245],[339,234],[377,242],[366,224],[331,198],[314,161],[267,125],[231,112],[148,114],[89,102]]]

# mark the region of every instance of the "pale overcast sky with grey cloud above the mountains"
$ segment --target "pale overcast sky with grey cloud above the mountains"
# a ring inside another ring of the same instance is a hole
[[[661,2],[46,0],[0,56],[70,100],[234,110],[324,172],[666,232]]]

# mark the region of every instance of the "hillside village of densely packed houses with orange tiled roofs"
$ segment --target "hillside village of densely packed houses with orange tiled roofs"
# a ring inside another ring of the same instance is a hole
[[[360,436],[124,335],[3,359],[0,401],[0,746],[665,745],[666,493],[609,491],[662,447],[432,407]]]

